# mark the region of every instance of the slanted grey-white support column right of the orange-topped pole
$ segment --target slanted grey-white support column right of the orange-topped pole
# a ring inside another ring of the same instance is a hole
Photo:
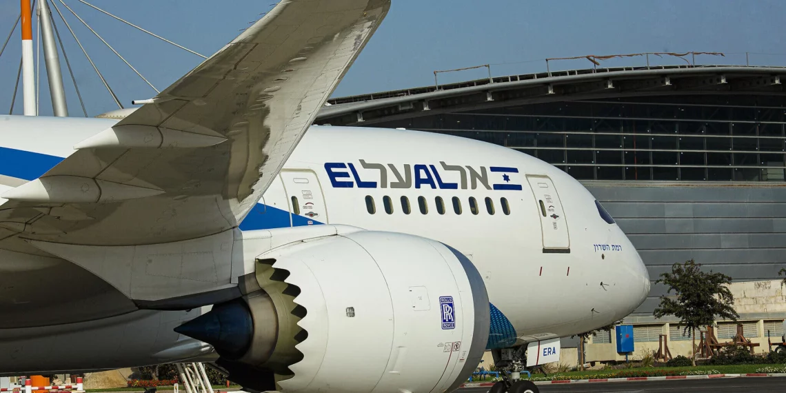
[[[60,54],[57,53],[57,44],[52,31],[52,12],[48,0],[39,0],[39,13],[41,14],[41,39],[44,47],[44,60],[46,61],[46,75],[49,78],[50,96],[52,97],[52,110],[54,116],[68,116],[68,105],[65,102],[63,89],[63,75],[60,68]]]

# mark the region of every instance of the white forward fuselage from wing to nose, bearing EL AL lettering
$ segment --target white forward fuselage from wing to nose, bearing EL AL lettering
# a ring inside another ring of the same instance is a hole
[[[360,160],[366,167],[382,164],[387,172],[386,186],[380,170],[365,169]],[[347,168],[331,171],[334,182],[349,182],[351,187],[333,186],[325,163],[347,164]],[[446,171],[442,163],[465,168],[466,185],[462,186],[461,171]],[[404,180],[409,166],[412,184],[393,188],[391,183],[395,185],[398,178],[391,166]],[[416,167],[425,167],[430,174],[416,171]],[[500,167],[517,169],[518,173],[494,171]],[[479,179],[472,182],[472,170],[480,174],[483,169],[490,189]],[[303,183],[312,176],[317,183]],[[429,177],[434,178],[435,187],[429,184]],[[358,179],[368,188],[358,188]],[[553,187],[547,192],[553,193],[553,200],[545,201],[545,208],[557,205],[560,217],[556,219],[550,217],[552,211],[547,211],[547,217],[542,215],[539,201],[545,199],[544,183]],[[494,189],[494,184],[521,185],[521,189]],[[303,200],[303,189],[321,193],[323,206],[303,209],[307,202],[318,203],[317,196]],[[646,268],[633,245],[619,226],[601,218],[595,198],[583,185],[548,163],[498,145],[411,130],[311,127],[263,200],[268,207],[291,211],[292,196],[301,205],[300,216],[309,211],[320,214],[312,221],[411,233],[457,248],[483,274],[490,302],[527,341],[542,335],[570,336],[618,321],[649,292]],[[369,196],[374,214],[367,207]],[[391,214],[386,212],[386,196],[390,197]],[[402,211],[402,197],[409,201],[410,214]],[[426,214],[421,213],[420,197]],[[444,210],[437,206],[438,197]],[[454,197],[460,202],[461,214],[454,209]],[[470,198],[476,200],[476,214]],[[502,198],[509,204],[509,215],[503,211]],[[254,219],[247,217],[241,229],[253,228],[248,224]],[[303,225],[303,219],[309,218],[296,217],[293,225]]]

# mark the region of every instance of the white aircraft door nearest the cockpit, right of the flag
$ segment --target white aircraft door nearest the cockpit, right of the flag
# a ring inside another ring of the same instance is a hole
[[[538,217],[541,220],[543,252],[571,252],[571,239],[567,230],[567,217],[562,209],[560,196],[548,176],[527,175],[527,182],[535,196]]]

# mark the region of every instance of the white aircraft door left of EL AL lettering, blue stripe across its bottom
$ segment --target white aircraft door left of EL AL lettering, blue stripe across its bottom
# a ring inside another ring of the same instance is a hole
[[[292,214],[292,226],[328,223],[325,196],[314,171],[281,171]]]

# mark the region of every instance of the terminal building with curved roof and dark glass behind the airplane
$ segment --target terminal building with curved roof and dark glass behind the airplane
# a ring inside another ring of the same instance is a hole
[[[688,259],[728,274],[746,337],[766,343],[769,332],[780,342],[784,77],[786,68],[740,66],[511,75],[333,98],[316,123],[457,135],[551,163],[582,181],[612,214],[652,281]],[[665,292],[652,285],[626,323],[645,347],[669,336],[676,356],[677,342],[690,339],[673,320],[652,317]],[[717,332],[718,340],[731,338],[736,324],[721,321]],[[596,336],[588,359],[619,359],[612,336]]]

